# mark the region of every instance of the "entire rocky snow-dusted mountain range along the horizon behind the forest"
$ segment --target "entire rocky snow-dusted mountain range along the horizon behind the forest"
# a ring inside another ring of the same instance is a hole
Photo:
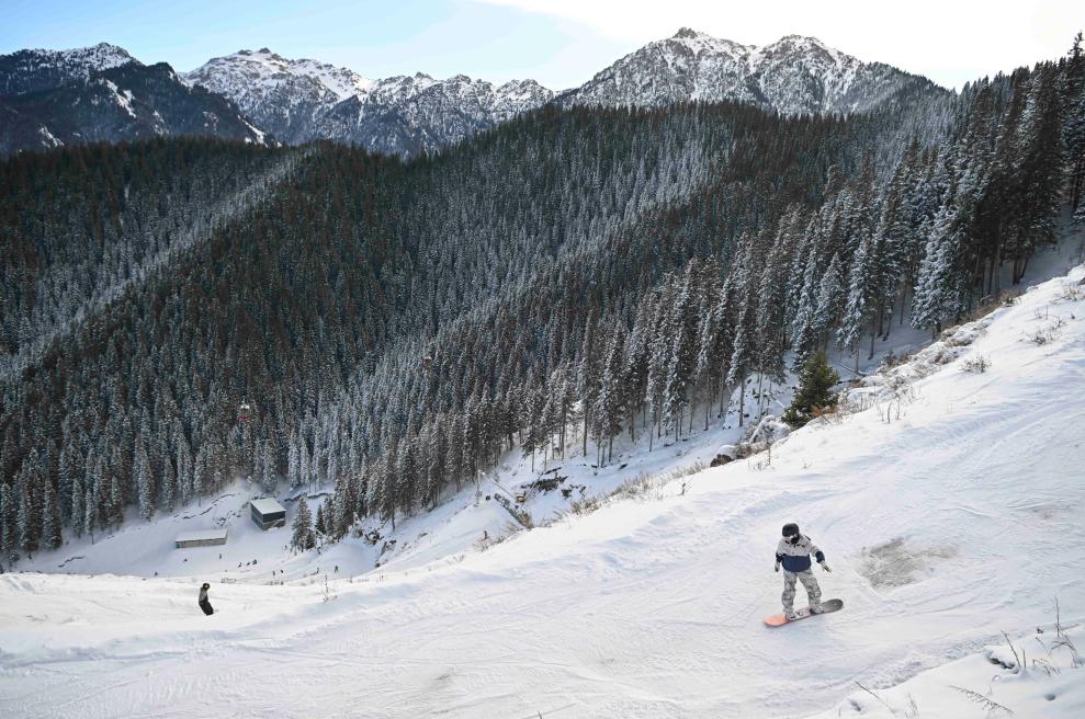
[[[812,37],[789,35],[756,47],[686,27],[561,92],[530,79],[495,84],[463,75],[374,80],[268,48],[174,73],[101,44],[0,56],[0,153],[188,134],[290,145],[330,139],[411,156],[551,102],[659,106],[732,100],[788,115],[847,114],[916,93],[948,94],[925,78],[863,62]]]

